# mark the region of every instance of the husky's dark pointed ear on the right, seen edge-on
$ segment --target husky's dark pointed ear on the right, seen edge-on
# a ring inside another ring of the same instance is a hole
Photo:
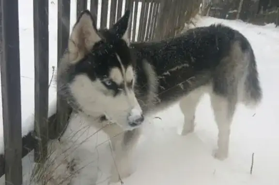
[[[127,45],[130,44],[128,27],[131,23],[130,10],[126,10],[123,17],[121,17],[113,26],[110,28],[112,33],[116,33],[119,38],[122,38],[126,41]]]

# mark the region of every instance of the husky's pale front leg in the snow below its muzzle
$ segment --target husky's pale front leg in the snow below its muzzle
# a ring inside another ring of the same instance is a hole
[[[114,163],[111,168],[110,182],[115,183],[120,179],[131,175],[133,170],[132,157],[140,137],[140,129],[116,132],[115,128],[110,128],[109,137],[112,143]]]

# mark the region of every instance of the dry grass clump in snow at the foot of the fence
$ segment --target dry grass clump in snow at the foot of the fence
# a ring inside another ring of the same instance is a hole
[[[93,159],[87,165],[76,168],[77,164],[75,164],[74,157],[71,154],[77,151],[83,143],[102,131],[103,128],[96,130],[84,140],[80,140],[80,138],[87,134],[88,125],[80,128],[78,131],[73,131],[71,134],[66,135],[66,137],[63,136],[60,142],[58,140],[49,141],[47,159],[44,163],[35,163],[31,172],[30,185],[67,185],[71,179],[78,175],[80,170],[92,163],[96,163],[98,161],[97,148],[109,142],[110,139],[98,145],[95,143],[97,159]],[[112,152],[111,150],[111,155]]]

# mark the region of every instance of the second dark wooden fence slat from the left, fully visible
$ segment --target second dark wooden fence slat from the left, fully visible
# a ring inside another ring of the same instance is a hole
[[[37,145],[34,148],[35,162],[47,158],[48,141],[48,0],[33,2],[34,23],[34,68],[35,107],[34,128]]]

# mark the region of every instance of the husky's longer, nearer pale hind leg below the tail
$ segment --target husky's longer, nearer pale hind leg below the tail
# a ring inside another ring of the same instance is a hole
[[[211,106],[214,111],[215,120],[218,127],[217,150],[213,155],[219,160],[228,157],[230,144],[230,128],[235,110],[236,101],[221,95],[212,93]]]

